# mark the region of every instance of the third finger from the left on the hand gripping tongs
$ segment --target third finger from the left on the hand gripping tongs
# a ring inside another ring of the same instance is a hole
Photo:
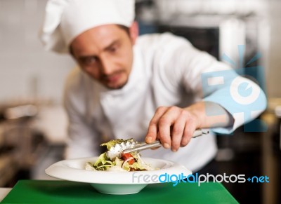
[[[186,118],[180,116],[173,125],[171,132],[171,151],[178,151],[181,146],[181,140],[183,138],[183,133],[185,129]]]

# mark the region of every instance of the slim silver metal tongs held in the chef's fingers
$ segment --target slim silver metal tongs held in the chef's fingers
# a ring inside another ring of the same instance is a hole
[[[198,129],[198,130],[195,130],[195,132],[192,135],[192,138],[200,137],[202,135],[207,135],[208,133],[209,133],[209,131],[207,131],[207,130],[203,131],[202,129]],[[122,153],[126,154],[126,153],[130,153],[132,151],[143,151],[145,149],[151,149],[151,148],[161,147],[161,146],[162,146],[162,144],[159,140],[149,143],[149,144],[145,143],[145,142],[141,142],[141,143],[138,143],[136,145],[136,147],[124,149],[122,151]]]

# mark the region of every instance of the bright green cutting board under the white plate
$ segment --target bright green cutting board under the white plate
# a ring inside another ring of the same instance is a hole
[[[150,184],[131,195],[98,193],[90,184],[20,180],[1,203],[237,203],[219,183]]]

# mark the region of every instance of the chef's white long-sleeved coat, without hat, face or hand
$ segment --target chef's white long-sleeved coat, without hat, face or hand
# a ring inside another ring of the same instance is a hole
[[[217,128],[223,133],[231,132],[251,119],[235,114],[243,108],[223,99],[223,93],[230,90],[229,84],[203,93],[202,73],[231,68],[197,50],[186,39],[169,33],[139,36],[133,54],[129,81],[119,90],[103,87],[79,67],[68,76],[64,99],[70,120],[67,158],[98,156],[101,142],[115,138],[144,141],[150,119],[159,106],[188,107],[203,97],[221,104],[235,118],[232,127]],[[235,72],[229,72],[236,76]],[[248,79],[237,77],[256,86]],[[219,78],[214,77],[212,82],[216,80]],[[253,118],[266,107],[266,97],[262,92],[261,95],[260,111],[256,111]],[[215,137],[210,134],[192,139],[176,153],[159,148],[141,154],[176,161],[195,171],[211,161],[216,151]]]

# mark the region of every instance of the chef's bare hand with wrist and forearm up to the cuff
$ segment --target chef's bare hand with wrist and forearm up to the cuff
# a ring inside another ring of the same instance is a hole
[[[207,112],[212,113],[211,116]],[[186,108],[159,107],[150,121],[145,142],[158,139],[164,148],[178,151],[190,142],[195,130],[226,127],[233,123],[233,116],[214,102],[197,102]]]

